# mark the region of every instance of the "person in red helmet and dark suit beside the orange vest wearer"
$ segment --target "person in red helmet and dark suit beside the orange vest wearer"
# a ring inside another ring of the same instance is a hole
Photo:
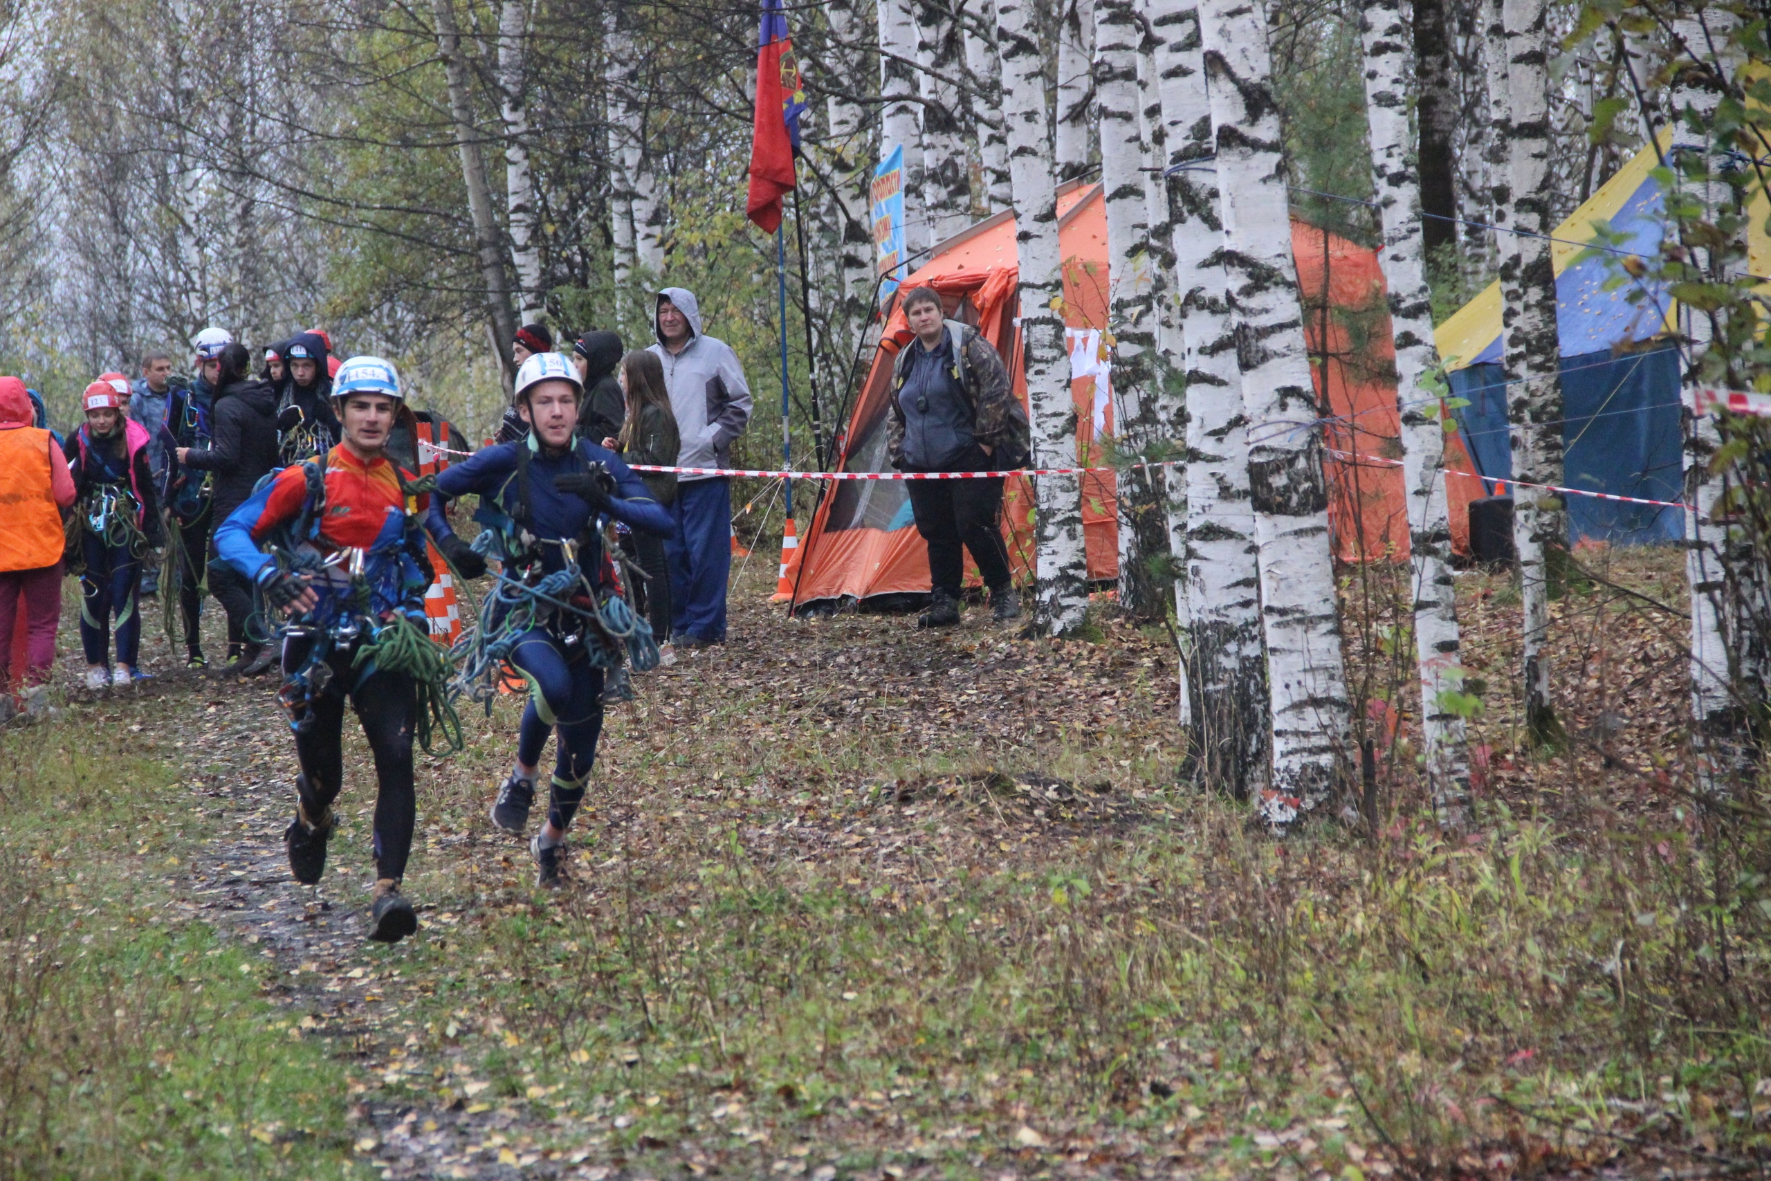
[[[120,390],[119,390],[120,386]],[[129,382],[96,381],[81,397],[87,421],[64,444],[67,471],[80,501],[80,646],[87,655],[87,689],[128,689],[142,648],[136,590],[142,560],[159,545],[159,505],[147,462],[147,430],[124,413]],[[112,616],[117,618],[117,662],[110,660]]]

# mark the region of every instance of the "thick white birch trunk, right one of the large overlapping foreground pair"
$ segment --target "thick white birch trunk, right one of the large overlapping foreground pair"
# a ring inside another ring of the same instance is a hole
[[[1350,706],[1328,483],[1291,257],[1266,23],[1261,5],[1247,0],[1201,0],[1199,27],[1261,547],[1273,770],[1259,811],[1282,827],[1326,807],[1344,784]]]

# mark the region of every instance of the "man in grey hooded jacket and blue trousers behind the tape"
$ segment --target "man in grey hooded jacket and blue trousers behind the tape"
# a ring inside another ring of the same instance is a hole
[[[731,441],[751,421],[751,384],[739,354],[724,340],[701,333],[694,292],[659,292],[652,352],[664,365],[664,386],[677,414],[680,467],[730,467]],[[726,639],[726,579],[731,574],[731,482],[726,476],[677,478],[669,506],[673,531],[664,538],[669,561],[671,636],[682,646]]]

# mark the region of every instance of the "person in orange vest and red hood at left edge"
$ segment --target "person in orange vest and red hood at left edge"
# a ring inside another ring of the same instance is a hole
[[[0,377],[0,714],[11,715],[19,687],[39,685],[55,664],[62,620],[62,510],[74,503],[67,459],[18,377]],[[27,629],[25,668],[12,668],[19,604]]]

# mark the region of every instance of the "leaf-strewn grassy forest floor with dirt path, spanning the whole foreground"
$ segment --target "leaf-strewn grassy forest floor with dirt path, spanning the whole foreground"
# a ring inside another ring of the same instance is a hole
[[[485,820],[515,701],[420,760],[391,949],[310,938],[367,894],[361,740],[298,891],[273,687],[156,637],[0,740],[0,1176],[1753,1176],[1764,795],[1691,799],[1681,556],[1574,560],[1551,751],[1511,579],[1458,579],[1458,838],[1385,568],[1342,579],[1367,774],[1284,839],[1188,783],[1164,629],[788,621],[746,572],[611,710],[561,892]]]

